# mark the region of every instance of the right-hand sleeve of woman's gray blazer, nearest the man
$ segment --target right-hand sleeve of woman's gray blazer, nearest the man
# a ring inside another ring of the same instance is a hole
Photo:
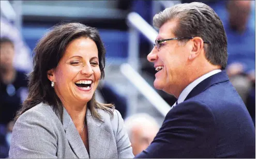
[[[118,152],[118,158],[133,158],[131,142],[128,134],[124,128],[124,120],[118,110],[115,110],[118,118],[118,127],[116,132],[116,146]]]

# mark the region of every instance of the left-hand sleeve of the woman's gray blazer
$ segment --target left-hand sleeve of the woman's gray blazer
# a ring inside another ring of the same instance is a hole
[[[27,110],[16,121],[11,138],[10,158],[57,158],[57,136],[49,117]]]

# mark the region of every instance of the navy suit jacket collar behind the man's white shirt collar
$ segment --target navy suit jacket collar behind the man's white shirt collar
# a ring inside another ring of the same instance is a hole
[[[194,97],[194,96],[197,96],[199,93],[205,91],[207,88],[209,88],[210,86],[212,86],[214,84],[221,83],[221,82],[226,82],[226,81],[229,81],[229,77],[225,73],[225,71],[221,71],[221,72],[216,73],[212,76],[209,76],[208,78],[206,78],[204,81],[199,83],[197,86],[195,86],[191,90],[191,92],[188,94],[185,101]]]

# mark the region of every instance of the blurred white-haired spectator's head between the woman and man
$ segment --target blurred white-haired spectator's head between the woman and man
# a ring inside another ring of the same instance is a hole
[[[134,156],[145,150],[159,131],[156,120],[145,113],[128,117],[125,120],[125,128]]]

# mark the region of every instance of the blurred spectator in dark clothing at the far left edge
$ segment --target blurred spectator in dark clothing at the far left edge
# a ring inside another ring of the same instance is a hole
[[[25,73],[13,67],[14,45],[8,38],[1,38],[0,41],[0,130],[3,138],[12,131],[12,120],[20,108],[22,100],[26,96],[27,81]],[[8,135],[9,136],[9,135]],[[7,140],[8,141],[8,140]],[[4,147],[8,142],[1,139],[0,146],[2,156],[5,152]]]

